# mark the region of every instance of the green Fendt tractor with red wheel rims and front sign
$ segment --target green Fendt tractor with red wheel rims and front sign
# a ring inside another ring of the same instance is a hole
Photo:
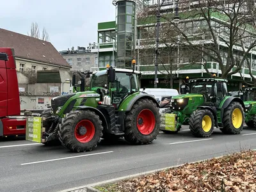
[[[85,77],[92,74],[90,91],[83,92],[81,83],[81,92],[52,98],[51,109],[39,120],[28,118],[26,139],[48,145],[60,140],[72,152],[92,150],[102,137],[124,137],[137,145],[155,140],[160,128],[159,104],[152,95],[140,92],[140,73],[132,63],[131,70],[108,65],[106,70],[84,72]],[[73,85],[75,80],[73,76]],[[36,124],[40,120],[42,127]]]

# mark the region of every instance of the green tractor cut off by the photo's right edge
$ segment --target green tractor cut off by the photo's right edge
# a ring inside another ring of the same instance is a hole
[[[256,128],[256,87],[245,88],[241,97],[245,106],[245,123],[248,127]]]

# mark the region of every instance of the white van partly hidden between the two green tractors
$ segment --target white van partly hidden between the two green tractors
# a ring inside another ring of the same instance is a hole
[[[140,92],[143,92],[143,88],[140,88]],[[170,99],[172,96],[179,95],[179,92],[175,89],[166,89],[166,88],[146,88],[145,93],[154,95],[158,102],[164,100],[165,98]]]

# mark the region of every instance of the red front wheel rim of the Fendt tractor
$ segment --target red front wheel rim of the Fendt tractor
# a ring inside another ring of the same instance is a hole
[[[81,133],[81,130],[82,131],[85,130],[85,133],[84,132]],[[88,143],[89,141],[92,140],[94,134],[95,134],[95,127],[90,120],[81,120],[81,122],[79,122],[76,125],[75,136],[77,141],[81,143]]]

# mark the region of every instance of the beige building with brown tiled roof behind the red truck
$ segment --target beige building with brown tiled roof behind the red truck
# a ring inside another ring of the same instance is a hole
[[[45,109],[70,92],[70,65],[50,42],[0,29],[0,47],[14,49],[21,109]]]

